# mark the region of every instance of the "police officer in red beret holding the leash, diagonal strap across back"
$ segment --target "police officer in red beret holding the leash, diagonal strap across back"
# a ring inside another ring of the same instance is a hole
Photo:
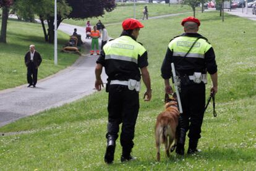
[[[189,131],[187,154],[198,152],[197,143],[201,137],[201,126],[205,108],[205,84],[207,72],[210,73],[213,86],[211,93],[218,91],[217,65],[215,52],[207,38],[198,34],[200,21],[194,17],[182,20],[185,33],[175,37],[168,44],[166,56],[161,67],[165,91],[173,93],[169,84],[172,77],[171,63],[174,63],[176,75],[180,79],[181,105],[183,113],[179,116],[176,153],[184,155],[186,133]]]

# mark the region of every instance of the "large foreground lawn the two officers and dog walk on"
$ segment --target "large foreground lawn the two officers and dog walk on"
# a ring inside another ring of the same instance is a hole
[[[118,139],[114,164],[104,163],[108,94],[101,91],[0,128],[3,133],[18,131],[0,138],[0,170],[255,170],[256,37],[252,30],[256,23],[228,14],[221,22],[218,12],[197,14],[202,22],[199,33],[215,48],[218,117],[213,117],[210,105],[198,144],[202,153],[184,158],[171,154],[167,159],[162,146],[161,162],[155,160],[153,129],[164,98],[161,62],[169,40],[182,33],[184,17],[143,21],[139,41],[148,50],[153,99],[143,102],[142,86],[133,149],[137,161],[121,164]],[[121,27],[109,26],[112,37],[120,32]]]

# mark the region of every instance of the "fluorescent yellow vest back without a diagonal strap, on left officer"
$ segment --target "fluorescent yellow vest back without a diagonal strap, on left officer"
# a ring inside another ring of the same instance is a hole
[[[103,47],[105,59],[117,59],[138,63],[138,56],[146,49],[129,36],[121,36],[113,41],[109,41]]]

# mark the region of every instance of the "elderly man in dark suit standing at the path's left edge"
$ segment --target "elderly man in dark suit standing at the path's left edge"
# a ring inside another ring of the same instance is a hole
[[[42,62],[40,53],[35,51],[35,45],[30,45],[30,51],[25,54],[25,65],[27,66],[27,81],[28,87],[36,86],[38,67]],[[33,78],[32,78],[33,76]]]

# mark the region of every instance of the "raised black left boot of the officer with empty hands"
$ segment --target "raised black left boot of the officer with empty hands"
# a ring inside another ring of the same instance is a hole
[[[107,164],[112,164],[114,161],[114,149],[116,148],[116,138],[113,135],[108,136],[108,144],[104,160]]]

